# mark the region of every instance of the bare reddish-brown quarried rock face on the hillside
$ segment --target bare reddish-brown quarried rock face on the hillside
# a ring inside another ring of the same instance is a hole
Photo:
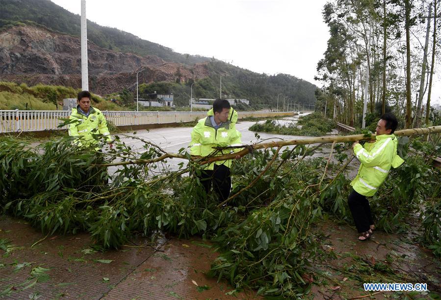
[[[89,89],[98,94],[121,91],[138,82],[181,81],[208,76],[205,63],[192,68],[165,62],[155,55],[115,52],[88,43]],[[41,27],[12,27],[0,32],[0,80],[81,87],[81,49],[78,37]]]

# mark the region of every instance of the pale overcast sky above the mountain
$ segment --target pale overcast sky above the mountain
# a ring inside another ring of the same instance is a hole
[[[80,14],[80,0],[52,0]],[[87,0],[87,19],[179,53],[314,81],[329,38],[326,0]],[[441,103],[440,75],[433,102]]]

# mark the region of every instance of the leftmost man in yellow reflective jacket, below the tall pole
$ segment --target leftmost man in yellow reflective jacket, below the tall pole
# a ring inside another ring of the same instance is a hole
[[[92,95],[88,91],[81,91],[77,99],[78,105],[72,109],[69,117],[69,136],[76,136],[75,142],[84,147],[98,144],[98,140],[94,138],[94,135],[98,134],[103,135],[106,142],[110,142],[110,133],[103,113],[90,106]],[[110,144],[110,148],[112,146]],[[99,149],[96,147],[96,150]]]

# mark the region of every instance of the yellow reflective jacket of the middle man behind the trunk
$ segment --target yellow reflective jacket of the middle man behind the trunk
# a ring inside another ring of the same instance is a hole
[[[239,146],[242,144],[240,132],[236,130],[235,123],[237,122],[237,111],[233,108],[230,109],[229,120],[222,123],[221,127],[217,130],[211,125],[210,116],[214,115],[213,110],[209,110],[207,117],[199,120],[198,124],[193,128],[191,132],[190,142],[190,154],[197,156],[208,156],[213,151],[213,147],[226,147],[226,146]],[[234,121],[234,122],[233,122]],[[216,156],[229,154],[232,152],[239,152],[241,149],[227,149],[218,151]],[[231,160],[218,161],[203,166],[203,168],[212,170],[214,164],[224,164],[227,167],[231,167]]]

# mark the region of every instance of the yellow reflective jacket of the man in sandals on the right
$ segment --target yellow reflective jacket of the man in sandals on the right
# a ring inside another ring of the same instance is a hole
[[[380,135],[376,139],[375,143],[364,143],[364,148],[361,144],[354,147],[354,155],[361,164],[351,186],[364,196],[373,196],[388,177],[390,168],[404,163],[396,153],[396,136]]]

